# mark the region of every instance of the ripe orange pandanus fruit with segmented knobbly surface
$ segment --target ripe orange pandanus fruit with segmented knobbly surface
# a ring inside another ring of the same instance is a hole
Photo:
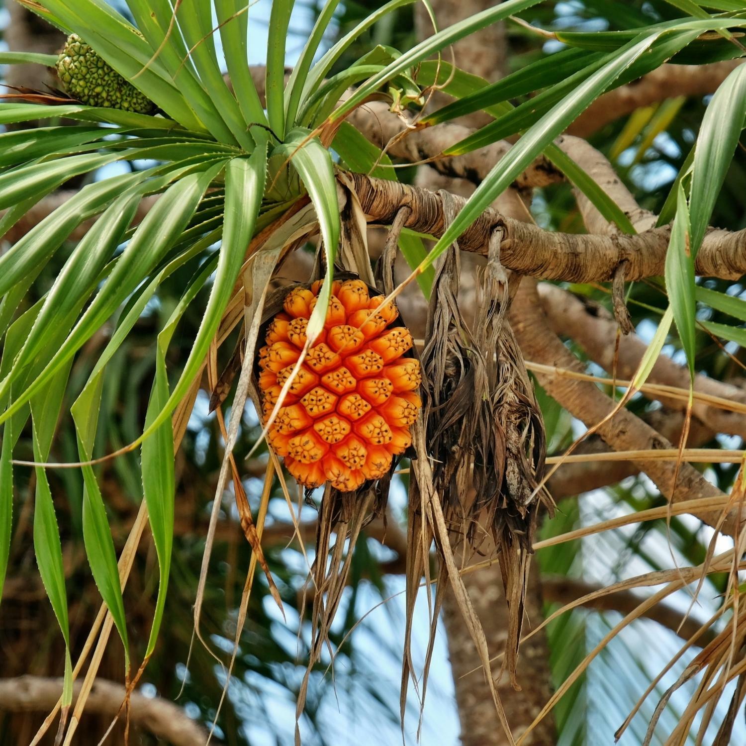
[[[321,281],[292,289],[267,328],[259,351],[265,421],[301,356],[319,289]],[[351,492],[383,477],[392,457],[412,442],[410,424],[421,407],[419,360],[404,357],[412,335],[391,327],[398,312],[382,302],[362,280],[333,283],[324,330],[269,428],[272,448],[306,487],[328,482]]]

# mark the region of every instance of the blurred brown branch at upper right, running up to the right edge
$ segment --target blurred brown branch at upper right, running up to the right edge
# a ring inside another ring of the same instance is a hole
[[[568,133],[588,137],[602,127],[643,106],[680,95],[714,93],[733,69],[745,60],[709,65],[661,65],[626,86],[604,93],[569,127]]]

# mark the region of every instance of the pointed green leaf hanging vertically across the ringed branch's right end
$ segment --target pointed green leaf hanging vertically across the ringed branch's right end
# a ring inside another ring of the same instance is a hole
[[[674,225],[671,228],[671,241],[665,255],[665,288],[668,301],[679,330],[681,346],[686,352],[689,363],[689,375],[694,382],[695,376],[695,263],[689,244],[689,206],[686,195],[679,184],[678,209]]]

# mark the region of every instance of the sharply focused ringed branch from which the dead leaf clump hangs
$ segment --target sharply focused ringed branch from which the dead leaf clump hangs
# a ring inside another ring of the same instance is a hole
[[[442,236],[445,215],[439,195],[409,184],[384,181],[363,174],[349,174],[369,222],[391,225],[399,208],[412,208],[406,227]],[[454,197],[457,210],[465,204]],[[501,263],[521,275],[572,282],[610,280],[626,262],[627,280],[662,275],[670,230],[652,228],[635,236],[578,235],[542,231],[536,225],[485,210],[461,234],[463,251],[485,254],[489,236],[502,228]],[[695,271],[705,277],[737,279],[746,273],[746,230],[736,233],[710,231],[697,254]]]

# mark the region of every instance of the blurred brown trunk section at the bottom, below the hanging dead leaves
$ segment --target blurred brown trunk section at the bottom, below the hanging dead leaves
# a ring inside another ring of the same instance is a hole
[[[474,558],[476,561],[477,558]],[[542,595],[539,583],[539,568],[536,564],[530,574],[526,594],[527,620],[524,629],[530,629],[543,619]],[[505,646],[508,628],[508,609],[502,588],[499,565],[468,573],[463,578],[474,604],[491,655],[497,655]],[[461,719],[461,742],[463,746],[504,746],[507,738],[495,714],[495,705],[482,671],[472,669],[480,666],[474,643],[463,623],[460,609],[449,592],[443,604],[443,620],[448,633],[448,654],[456,684],[456,700]],[[534,635],[521,645],[518,658],[518,683],[522,691],[510,686],[509,677],[497,683],[513,737],[518,738],[539,714],[542,706],[551,697],[548,671],[549,652],[543,633]],[[499,663],[495,665],[498,674]],[[551,716],[542,721],[530,734],[525,746],[552,746],[556,743],[554,721]]]

